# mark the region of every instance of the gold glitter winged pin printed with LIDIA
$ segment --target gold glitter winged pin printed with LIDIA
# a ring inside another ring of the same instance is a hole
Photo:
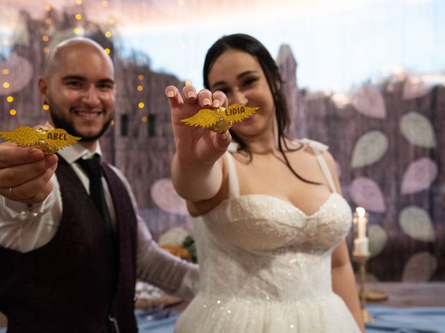
[[[228,130],[232,123],[243,121],[251,116],[259,107],[249,108],[241,104],[232,104],[224,108],[220,106],[216,109],[201,109],[192,117],[181,119],[189,126],[209,128],[214,132],[224,132]]]

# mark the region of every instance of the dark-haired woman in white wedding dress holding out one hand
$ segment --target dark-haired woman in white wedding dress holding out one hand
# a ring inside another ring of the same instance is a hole
[[[195,216],[200,293],[177,332],[364,332],[345,237],[351,211],[327,146],[290,141],[282,80],[248,35],[220,38],[200,92],[165,89],[172,181]],[[186,126],[202,108],[257,113],[229,130]]]

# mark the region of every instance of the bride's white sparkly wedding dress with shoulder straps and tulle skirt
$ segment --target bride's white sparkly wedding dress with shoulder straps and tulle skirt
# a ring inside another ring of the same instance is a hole
[[[332,189],[309,216],[280,198],[240,196],[226,154],[231,195],[195,219],[200,291],[175,332],[360,332],[331,283],[331,253],[350,229],[350,207],[335,191],[324,145],[306,142]]]

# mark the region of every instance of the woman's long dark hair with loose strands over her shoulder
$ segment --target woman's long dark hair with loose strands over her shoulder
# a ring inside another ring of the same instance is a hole
[[[216,59],[221,56],[225,51],[229,49],[237,49],[243,51],[245,53],[249,53],[250,56],[255,58],[259,65],[261,65],[261,69],[264,72],[264,76],[266,76],[266,80],[268,86],[270,88],[270,92],[273,96],[273,103],[275,105],[275,118],[277,120],[277,128],[278,128],[278,148],[282,153],[282,157],[284,158],[284,163],[286,166],[292,171],[292,173],[305,182],[309,182],[312,184],[319,184],[318,182],[312,182],[309,180],[305,180],[302,178],[289,164],[289,160],[284,153],[284,147],[286,151],[290,151],[289,147],[286,144],[284,131],[289,127],[290,119],[289,119],[289,110],[287,108],[286,99],[284,98],[284,94],[282,92],[282,78],[280,75],[280,71],[275,63],[275,60],[270,56],[269,51],[264,47],[259,40],[255,39],[250,35],[245,35],[242,33],[227,35],[221,37],[217,40],[207,51],[206,58],[204,60],[204,87],[210,89],[209,85],[209,72],[211,67],[213,66]],[[252,160],[252,152],[249,147],[243,140],[236,135],[232,130],[230,130],[230,135],[234,138],[234,140],[239,144],[238,151],[245,151],[248,154],[249,160]],[[302,148],[302,145],[299,148],[294,150],[298,150]]]

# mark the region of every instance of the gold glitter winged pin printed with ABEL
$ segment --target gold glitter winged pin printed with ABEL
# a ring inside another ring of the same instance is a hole
[[[45,155],[56,153],[59,149],[75,144],[81,139],[68,134],[62,128],[40,127],[34,129],[28,126],[0,132],[0,137],[6,141],[15,142],[18,146],[39,148]]]

